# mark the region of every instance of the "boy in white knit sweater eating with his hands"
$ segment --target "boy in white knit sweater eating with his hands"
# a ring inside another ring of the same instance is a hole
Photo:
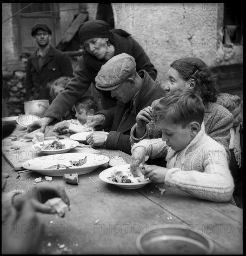
[[[201,98],[191,90],[176,89],[166,94],[153,108],[162,138],[133,144],[131,167],[144,162],[146,155],[166,157],[167,168],[145,165],[145,178],[201,199],[233,202],[234,183],[226,150],[206,135],[204,112]]]

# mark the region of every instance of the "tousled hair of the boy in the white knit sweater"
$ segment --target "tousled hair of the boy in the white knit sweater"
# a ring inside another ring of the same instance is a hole
[[[154,106],[153,119],[155,122],[165,120],[186,128],[192,121],[201,125],[204,112],[205,107],[198,94],[190,89],[175,89]]]

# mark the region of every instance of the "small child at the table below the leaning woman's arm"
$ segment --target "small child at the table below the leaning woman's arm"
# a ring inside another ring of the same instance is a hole
[[[86,126],[87,115],[94,115],[98,110],[98,104],[91,96],[84,96],[78,99],[73,109],[77,119],[64,120],[54,125],[53,131],[59,134],[68,132],[80,133],[90,131],[92,128]]]

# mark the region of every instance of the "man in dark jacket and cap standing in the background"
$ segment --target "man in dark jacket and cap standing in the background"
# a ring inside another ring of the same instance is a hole
[[[31,34],[38,48],[27,60],[25,101],[50,100],[47,82],[61,76],[73,77],[73,67],[66,54],[49,44],[52,33],[47,24],[36,23]]]

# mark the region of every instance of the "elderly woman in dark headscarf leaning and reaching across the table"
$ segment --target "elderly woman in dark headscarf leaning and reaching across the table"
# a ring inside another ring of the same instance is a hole
[[[79,39],[84,51],[82,56],[78,57],[78,66],[74,70],[73,79],[52,102],[45,117],[29,126],[30,130],[38,126],[41,132],[45,132],[46,126],[54,118],[60,120],[74,102],[86,93],[91,83],[95,84],[95,77],[101,66],[115,55],[126,53],[133,56],[136,61],[136,71],[146,70],[155,81],[157,70],[144,49],[126,31],[109,30],[109,24],[103,20],[89,20],[80,25]],[[103,109],[116,106],[116,99],[111,97],[110,92],[101,91],[100,94]]]

